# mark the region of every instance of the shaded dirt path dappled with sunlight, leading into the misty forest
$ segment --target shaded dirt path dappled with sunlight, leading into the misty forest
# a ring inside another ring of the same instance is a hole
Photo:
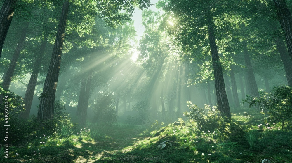
[[[64,151],[63,158],[67,157],[67,161],[76,163],[134,162],[135,156],[126,155],[125,152],[131,150],[130,146],[145,139],[139,136],[140,133],[141,129],[133,127],[109,128],[109,138],[91,142],[82,140],[81,146]]]

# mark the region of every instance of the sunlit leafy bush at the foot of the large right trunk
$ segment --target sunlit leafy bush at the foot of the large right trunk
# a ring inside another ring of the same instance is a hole
[[[217,107],[210,107],[205,105],[204,109],[197,107],[192,102],[188,101],[188,107],[192,109],[191,112],[185,112],[184,115],[191,119],[191,123],[201,131],[215,131],[220,132],[222,138],[230,138],[239,140],[242,138],[243,130],[238,122],[232,118],[225,116],[218,116]]]

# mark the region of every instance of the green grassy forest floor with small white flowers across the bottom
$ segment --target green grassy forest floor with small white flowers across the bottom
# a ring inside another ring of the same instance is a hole
[[[281,124],[264,123],[264,116],[253,109],[233,110],[232,118],[246,132],[246,139],[236,141],[225,139],[218,130],[200,131],[188,122],[181,126],[155,126],[155,130],[124,123],[87,123],[67,137],[38,133],[21,148],[11,146],[9,161],[253,163],[269,158],[292,162],[292,131],[280,130]],[[154,137],[162,128],[164,131]],[[172,146],[157,150],[159,143],[166,140]]]

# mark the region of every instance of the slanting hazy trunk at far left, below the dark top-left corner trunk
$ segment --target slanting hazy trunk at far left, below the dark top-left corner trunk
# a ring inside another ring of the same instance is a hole
[[[23,43],[25,41],[26,32],[27,32],[27,29],[24,28],[22,30],[20,39],[18,41],[17,47],[16,47],[16,49],[14,51],[14,54],[13,54],[13,58],[11,60],[10,66],[9,66],[9,68],[7,70],[7,73],[6,73],[4,81],[3,81],[3,88],[4,89],[8,89],[9,88],[9,85],[10,85],[10,82],[11,82],[11,79],[13,77],[13,73],[14,73],[14,70],[15,70],[16,62],[17,62],[19,54],[20,54],[20,50],[24,47]]]

